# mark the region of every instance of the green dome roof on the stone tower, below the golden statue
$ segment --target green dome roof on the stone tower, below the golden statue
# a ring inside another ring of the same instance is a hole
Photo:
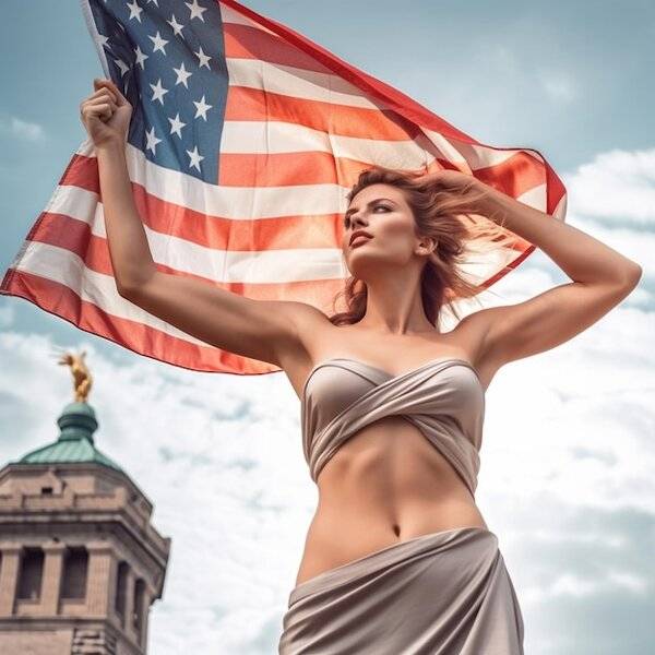
[[[95,446],[93,433],[98,427],[98,421],[88,403],[68,404],[57,419],[57,424],[61,430],[59,439],[55,443],[27,453],[16,464],[90,462],[124,473],[116,462]]]

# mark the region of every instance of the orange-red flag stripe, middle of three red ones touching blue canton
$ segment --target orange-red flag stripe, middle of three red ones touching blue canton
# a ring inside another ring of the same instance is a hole
[[[415,124],[385,109],[348,107],[233,85],[227,93],[225,120],[281,120],[326,134],[385,141],[410,140],[419,132]]]

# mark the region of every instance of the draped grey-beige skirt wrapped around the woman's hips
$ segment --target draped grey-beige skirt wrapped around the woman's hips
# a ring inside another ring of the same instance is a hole
[[[484,527],[393,544],[297,585],[279,655],[523,655],[523,617]]]

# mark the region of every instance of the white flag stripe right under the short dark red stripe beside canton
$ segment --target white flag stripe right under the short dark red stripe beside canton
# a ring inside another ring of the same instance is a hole
[[[318,73],[306,69],[269,63],[261,59],[227,57],[230,86],[246,86],[264,93],[276,93],[294,98],[317,100],[365,109],[386,109],[388,105],[368,96],[360,88],[332,73]]]

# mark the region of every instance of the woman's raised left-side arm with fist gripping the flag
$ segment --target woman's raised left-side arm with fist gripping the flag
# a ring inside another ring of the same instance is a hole
[[[118,293],[207,344],[282,366],[284,353],[303,347],[303,320],[325,317],[307,303],[249,299],[210,282],[157,271],[124,155],[131,106],[110,80],[96,80],[94,86],[95,93],[81,104],[81,115],[96,147]]]

